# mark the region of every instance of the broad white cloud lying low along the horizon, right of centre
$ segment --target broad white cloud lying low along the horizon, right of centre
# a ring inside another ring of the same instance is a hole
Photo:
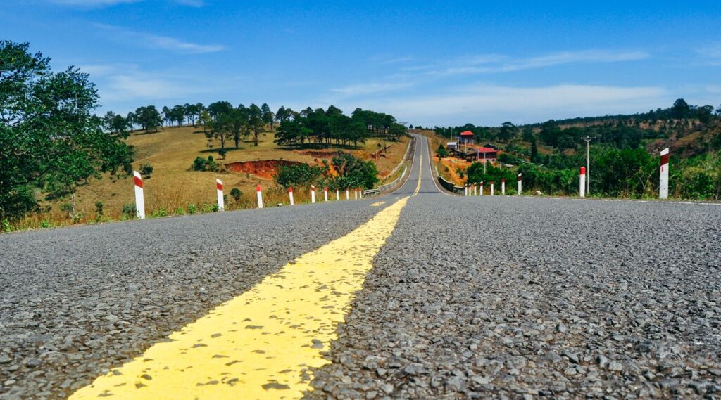
[[[668,104],[673,101],[670,97],[665,89],[654,86],[474,85],[425,96],[368,99],[357,106],[388,112],[412,124],[490,125],[646,111]]]

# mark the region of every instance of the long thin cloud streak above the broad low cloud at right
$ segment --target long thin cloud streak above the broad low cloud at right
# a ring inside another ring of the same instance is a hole
[[[642,51],[575,50],[548,53],[528,58],[513,58],[508,55],[487,54],[457,58],[445,65],[414,66],[415,71],[425,70],[427,75],[451,76],[482,73],[505,73],[554,65],[572,63],[617,63],[643,60],[650,55]],[[406,68],[404,71],[411,71]]]

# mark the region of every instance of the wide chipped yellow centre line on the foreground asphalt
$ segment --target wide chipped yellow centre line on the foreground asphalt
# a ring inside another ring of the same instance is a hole
[[[173,332],[70,399],[298,399],[408,197]]]

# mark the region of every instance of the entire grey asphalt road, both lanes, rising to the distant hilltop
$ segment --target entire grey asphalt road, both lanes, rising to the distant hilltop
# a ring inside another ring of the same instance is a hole
[[[451,196],[428,157],[376,199],[0,235],[0,399],[68,396],[406,197],[309,398],[721,398],[720,206]]]

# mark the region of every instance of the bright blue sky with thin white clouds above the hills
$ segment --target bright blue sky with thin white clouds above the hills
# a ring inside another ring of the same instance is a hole
[[[0,3],[0,38],[90,73],[99,112],[334,104],[432,126],[721,104],[721,1]]]

